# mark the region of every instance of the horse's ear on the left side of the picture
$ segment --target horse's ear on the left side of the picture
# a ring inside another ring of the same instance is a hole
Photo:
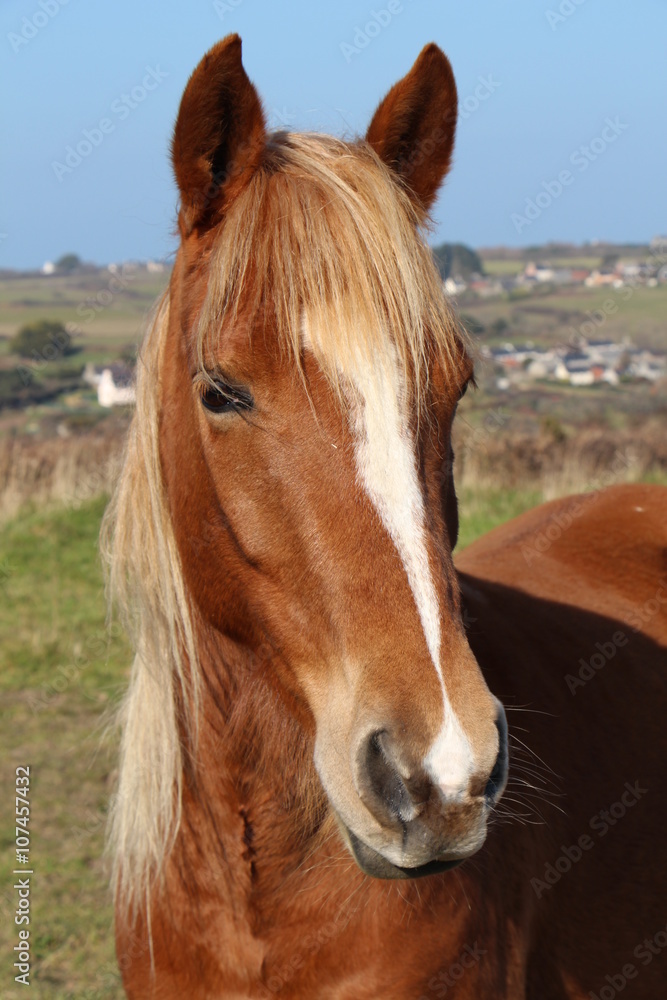
[[[188,80],[176,119],[171,156],[182,236],[220,218],[259,165],[265,142],[264,113],[241,62],[241,39],[228,35]]]

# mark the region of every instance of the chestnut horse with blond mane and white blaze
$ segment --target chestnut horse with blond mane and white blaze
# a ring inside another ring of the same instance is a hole
[[[425,233],[456,111],[435,44],[363,140],[267,132],[236,35],[185,88],[102,541],[130,998],[664,993],[667,490],[454,563],[474,350]]]

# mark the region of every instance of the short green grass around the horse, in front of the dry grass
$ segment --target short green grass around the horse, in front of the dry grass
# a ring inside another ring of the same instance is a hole
[[[536,501],[534,493],[464,496],[461,543]],[[114,740],[102,730],[122,690],[129,650],[105,627],[97,535],[103,499],[78,510],[27,513],[0,534],[0,775],[13,802],[14,773],[30,766],[33,949],[30,996],[123,996],[102,861],[113,784]],[[15,1000],[12,890],[14,825],[2,812],[0,996]],[[186,1000],[186,998],[184,998]]]

